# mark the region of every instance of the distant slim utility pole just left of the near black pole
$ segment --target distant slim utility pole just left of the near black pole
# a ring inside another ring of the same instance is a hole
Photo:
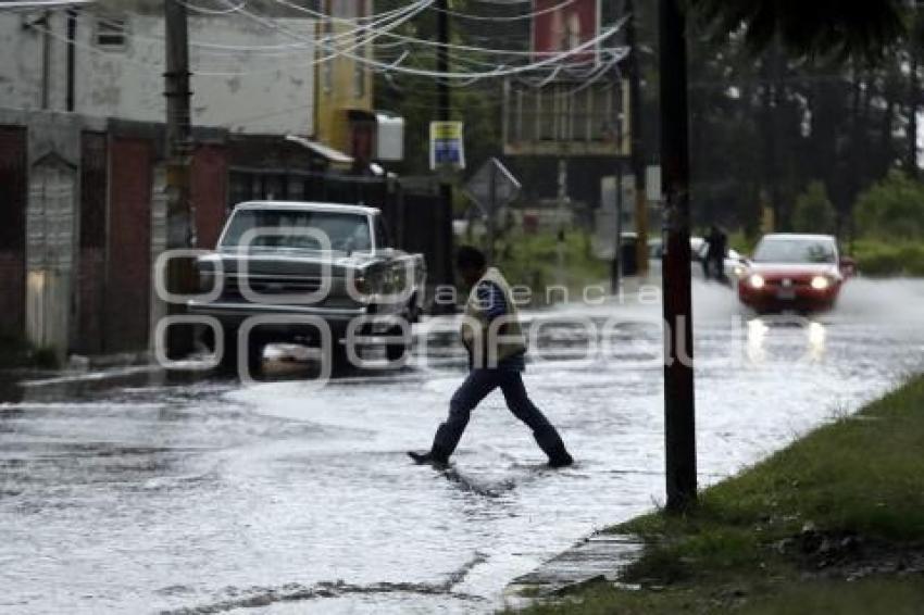
[[[632,172],[635,176],[635,233],[638,237],[636,246],[636,265],[638,275],[648,274],[648,202],[645,190],[645,151],[641,138],[641,70],[638,59],[638,13],[635,11],[635,0],[626,0],[625,12],[629,15],[626,22],[626,46],[628,54],[628,97],[629,97],[629,142],[632,147]]]

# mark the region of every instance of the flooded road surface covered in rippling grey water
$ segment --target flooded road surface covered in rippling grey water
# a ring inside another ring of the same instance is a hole
[[[701,484],[924,369],[922,281],[854,280],[811,322],[695,291]],[[491,612],[514,577],[663,498],[659,308],[535,317],[525,380],[578,460],[564,470],[499,393],[452,470],[410,464],[465,368],[438,331],[429,360],[321,390],[146,373],[4,388],[0,611]],[[580,356],[587,322],[609,348]]]

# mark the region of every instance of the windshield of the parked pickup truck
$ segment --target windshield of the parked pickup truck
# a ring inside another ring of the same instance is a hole
[[[355,252],[372,249],[366,216],[310,210],[238,210],[222,239],[222,248],[244,248],[245,234],[254,228],[266,230],[251,237],[251,248],[323,249],[316,233],[299,233],[311,229],[325,234],[332,250]]]

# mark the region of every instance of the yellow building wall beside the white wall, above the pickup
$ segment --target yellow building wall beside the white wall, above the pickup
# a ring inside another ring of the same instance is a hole
[[[337,3],[353,1],[359,3],[361,13],[369,14],[372,11],[372,2],[369,0],[333,0]],[[325,13],[332,14],[330,2],[326,2]],[[328,32],[325,32],[325,27]],[[354,36],[349,33],[355,29],[350,24],[319,25],[319,38],[330,38],[330,46],[352,55],[371,57],[370,45],[355,48]],[[330,32],[333,30],[333,33]],[[360,33],[359,36],[369,36]],[[319,60],[330,55],[334,50],[330,46],[317,48]],[[358,81],[357,70],[362,72],[361,81]],[[362,110],[371,112],[372,106],[372,71],[367,65],[355,62],[352,58],[338,54],[333,60],[319,64],[315,71],[317,84],[315,88],[315,138],[322,143],[337,150],[350,151],[350,131],[347,122],[348,110]]]

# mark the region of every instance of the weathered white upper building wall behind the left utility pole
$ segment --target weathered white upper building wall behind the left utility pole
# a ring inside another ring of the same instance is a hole
[[[42,89],[42,33],[24,28],[39,13],[0,12],[0,106],[39,109]],[[83,12],[77,22],[76,109],[92,116],[163,122],[165,115],[163,20],[129,15],[128,45],[102,50],[95,45],[96,17]],[[273,32],[242,17],[190,17],[189,38],[235,47],[300,45],[313,39],[309,20],[276,20],[292,36]],[[39,26],[41,28],[41,26]],[[54,12],[50,106],[65,109],[66,18]],[[191,48],[192,121],[197,126],[223,127],[250,134],[313,134],[313,50],[286,53]],[[244,73],[208,76],[198,72]]]

